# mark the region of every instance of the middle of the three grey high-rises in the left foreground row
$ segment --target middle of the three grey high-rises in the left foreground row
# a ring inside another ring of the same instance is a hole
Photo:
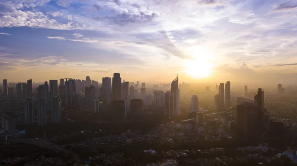
[[[37,125],[44,126],[47,124],[47,106],[46,100],[40,97],[37,101]]]

